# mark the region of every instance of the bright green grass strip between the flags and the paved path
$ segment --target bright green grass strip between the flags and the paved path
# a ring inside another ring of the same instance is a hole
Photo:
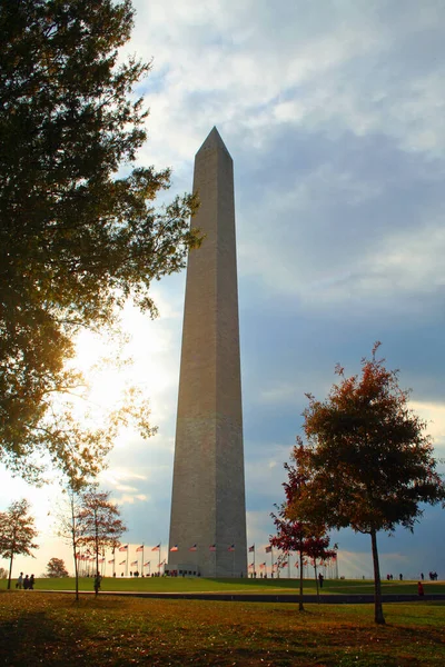
[[[92,590],[92,578],[81,578],[79,580],[80,590]],[[16,585],[12,581],[12,587]],[[0,589],[7,587],[3,579]],[[34,588],[37,590],[73,590],[75,579],[37,579]],[[395,594],[417,594],[417,581],[383,581],[383,593]],[[425,594],[445,594],[445,583],[425,581]],[[106,577],[102,579],[102,590],[129,590],[129,591],[152,591],[152,593],[253,593],[253,594],[296,594],[299,589],[297,579],[187,579],[182,577],[147,577],[147,578],[120,578]],[[305,579],[304,593],[314,594],[316,591],[315,581]],[[352,594],[373,594],[374,584],[372,580],[344,580],[327,579],[323,587],[323,594],[352,595]]]

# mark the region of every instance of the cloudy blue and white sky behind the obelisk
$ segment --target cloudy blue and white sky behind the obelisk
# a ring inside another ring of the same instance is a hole
[[[445,4],[442,0],[134,0],[126,53],[152,58],[137,93],[150,108],[141,165],[171,167],[190,191],[194,157],[216,126],[234,158],[246,507],[256,560],[273,532],[306,392],[325,398],[382,341],[412,407],[445,456]],[[167,556],[185,272],[154,286],[156,321],[130,306],[131,379],[158,434],[123,434],[102,488],[132,551]],[[90,342],[80,356],[92,354]],[[102,380],[102,392],[121,377]],[[443,470],[444,466],[439,466]],[[28,497],[40,575],[65,557],[57,487],[0,471],[0,509]],[[445,577],[445,514],[425,508],[414,534],[379,535],[380,567]],[[339,573],[370,577],[367,536],[342,530]],[[131,556],[132,557],[132,556]],[[157,556],[155,556],[157,560]],[[266,560],[266,557],[264,558]],[[6,561],[3,563],[6,566]]]

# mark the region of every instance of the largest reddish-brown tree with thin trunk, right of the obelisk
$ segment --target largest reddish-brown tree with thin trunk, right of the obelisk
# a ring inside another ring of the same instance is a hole
[[[377,532],[398,525],[413,530],[423,514],[419,504],[443,501],[445,487],[426,424],[409,408],[398,371],[376,359],[379,345],[372,359],[362,359],[360,376],[347,378],[336,367],[340,380],[326,400],[308,395],[307,442],[298,439],[294,456],[307,480],[298,515],[370,536],[375,621],[384,624]]]

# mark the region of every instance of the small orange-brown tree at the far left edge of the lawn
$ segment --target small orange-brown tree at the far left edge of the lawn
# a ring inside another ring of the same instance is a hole
[[[8,588],[11,588],[13,557],[32,556],[31,549],[38,549],[33,542],[38,534],[29,509],[30,505],[23,498],[11,502],[7,511],[0,512],[0,555],[9,558]]]

